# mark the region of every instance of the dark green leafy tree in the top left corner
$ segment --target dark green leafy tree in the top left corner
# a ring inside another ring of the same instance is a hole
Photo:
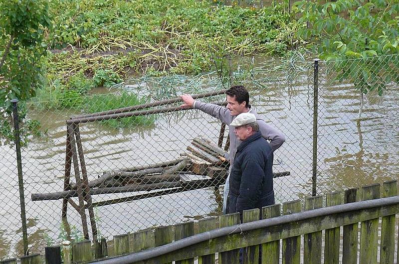
[[[42,60],[47,44],[44,35],[50,28],[48,3],[45,0],[0,1],[0,137],[13,140],[10,99],[28,100],[42,84]],[[24,122],[20,112],[21,144],[37,131],[32,121]],[[26,123],[26,124],[25,124]]]

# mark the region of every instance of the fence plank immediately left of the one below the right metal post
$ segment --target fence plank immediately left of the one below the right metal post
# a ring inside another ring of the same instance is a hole
[[[301,201],[283,203],[283,215],[298,213],[302,209]],[[301,261],[301,236],[283,239],[283,264],[299,264]]]

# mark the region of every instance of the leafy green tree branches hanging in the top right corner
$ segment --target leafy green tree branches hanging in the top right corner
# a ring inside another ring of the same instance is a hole
[[[299,31],[311,39],[320,58],[333,61],[338,78],[354,82],[362,93],[378,90],[381,95],[387,80],[397,79],[394,61],[384,56],[399,52],[398,0],[337,0],[321,4],[302,0],[295,3],[309,28]],[[358,59],[355,61],[343,61]]]

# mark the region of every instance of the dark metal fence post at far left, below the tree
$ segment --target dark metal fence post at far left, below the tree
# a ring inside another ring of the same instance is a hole
[[[23,192],[23,176],[22,176],[22,158],[21,145],[19,137],[19,117],[17,99],[12,99],[12,119],[14,121],[14,143],[16,152],[16,165],[18,172],[18,187],[19,187],[19,202],[21,206],[21,221],[22,221],[22,240],[23,240],[23,254],[26,256],[28,251],[28,236],[26,231],[26,213],[25,213],[25,195]]]

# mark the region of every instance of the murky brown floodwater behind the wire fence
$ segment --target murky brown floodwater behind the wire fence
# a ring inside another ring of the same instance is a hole
[[[303,84],[289,89],[273,84],[265,86],[262,91],[250,91],[252,105],[271,125],[285,133],[286,143],[275,152],[274,171],[291,172],[291,176],[275,179],[276,202],[302,199],[312,193],[313,90]],[[359,127],[356,122],[359,95],[353,86],[332,83],[320,88],[318,194],[398,177],[398,107],[398,86],[389,86],[383,97],[369,95]],[[22,150],[31,252],[38,252],[47,241],[62,240],[64,234],[61,200],[33,202],[30,195],[62,191],[65,120],[76,114],[79,113],[38,110],[29,113],[29,117],[39,120],[47,131],[46,136],[33,138]],[[123,130],[98,123],[82,124],[80,132],[89,180],[104,171],[175,159],[197,135],[206,135],[217,142],[219,128],[217,120],[198,111],[162,114],[153,126]],[[22,234],[14,150],[9,146],[0,148],[2,258],[21,255]],[[93,202],[131,195],[133,193],[97,195],[93,196]],[[216,195],[213,188],[205,188],[97,207],[94,209],[97,228],[101,236],[111,239],[113,235],[152,226],[216,215],[220,210]],[[74,234],[79,236],[80,218],[71,207],[68,207],[68,221],[76,226],[78,231]]]

